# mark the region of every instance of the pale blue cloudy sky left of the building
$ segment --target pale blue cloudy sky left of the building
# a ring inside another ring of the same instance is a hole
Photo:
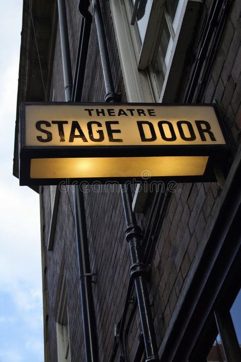
[[[0,9],[0,362],[43,362],[39,195],[12,175],[22,0]]]

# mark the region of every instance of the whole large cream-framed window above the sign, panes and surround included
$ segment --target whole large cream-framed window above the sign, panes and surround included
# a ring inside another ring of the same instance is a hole
[[[128,101],[174,101],[200,3],[110,0]]]

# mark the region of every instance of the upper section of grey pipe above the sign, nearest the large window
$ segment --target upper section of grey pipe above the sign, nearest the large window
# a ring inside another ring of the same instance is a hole
[[[105,82],[105,90],[106,90],[105,101],[106,102],[111,102],[111,101],[118,102],[119,97],[114,91],[114,83],[113,83],[113,77],[112,77],[112,73],[111,73],[110,59],[109,59],[109,53],[108,53],[107,43],[106,43],[106,38],[105,38],[105,29],[104,29],[104,22],[103,22],[103,18],[102,18],[100,3],[99,3],[99,0],[93,0],[92,3],[94,6],[94,11],[95,11],[94,15],[95,15],[99,48],[100,48],[101,64],[102,64],[102,68],[103,68],[103,76],[104,76],[104,82]]]

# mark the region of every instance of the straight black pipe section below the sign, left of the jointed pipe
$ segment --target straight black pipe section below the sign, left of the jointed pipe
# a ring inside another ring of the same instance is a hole
[[[98,337],[92,292],[91,266],[87,242],[86,219],[83,193],[75,186],[74,192],[75,230],[77,239],[79,279],[81,291],[82,320],[84,330],[84,347],[86,362],[97,362]]]

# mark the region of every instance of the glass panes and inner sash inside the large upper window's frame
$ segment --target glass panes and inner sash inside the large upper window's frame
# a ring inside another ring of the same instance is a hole
[[[153,0],[130,0],[130,2],[132,3],[130,23],[136,26],[139,36],[138,69],[144,70],[149,67],[149,75],[155,81],[160,96],[184,1],[170,0],[157,3]]]

